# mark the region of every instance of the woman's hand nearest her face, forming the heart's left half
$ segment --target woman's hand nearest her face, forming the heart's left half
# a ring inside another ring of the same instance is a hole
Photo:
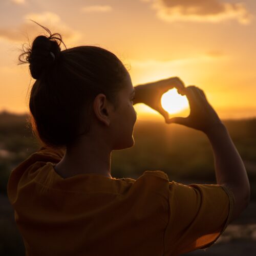
[[[167,122],[169,115],[162,107],[161,97],[165,92],[173,88],[177,88],[178,92],[185,88],[183,81],[179,77],[170,77],[136,86],[134,104],[144,103],[150,106],[158,111],[164,117],[165,122]]]

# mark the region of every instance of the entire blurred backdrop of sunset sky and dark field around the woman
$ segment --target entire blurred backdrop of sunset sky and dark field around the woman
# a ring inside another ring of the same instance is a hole
[[[255,17],[253,0],[1,0],[0,255],[25,255],[6,185],[11,170],[39,148],[27,122],[34,80],[27,65],[17,65],[23,44],[45,34],[30,19],[60,33],[68,48],[94,45],[113,52],[134,86],[179,76],[186,86],[204,90],[244,160],[251,202],[216,244],[188,255],[255,255]],[[167,98],[170,117],[189,114],[181,98]],[[203,133],[165,124],[144,104],[135,109],[135,145],[113,152],[113,177],[137,179],[145,170],[162,170],[170,181],[216,182],[214,157]]]

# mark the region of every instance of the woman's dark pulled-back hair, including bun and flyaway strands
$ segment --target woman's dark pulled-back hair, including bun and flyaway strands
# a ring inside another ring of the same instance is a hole
[[[115,54],[100,47],[61,51],[61,35],[41,27],[49,36],[37,36],[32,47],[23,48],[19,56],[20,63],[30,64],[36,79],[30,91],[30,122],[42,144],[65,148],[89,131],[97,94],[105,94],[116,107],[115,96],[123,86],[127,69]],[[83,131],[79,132],[81,127]]]

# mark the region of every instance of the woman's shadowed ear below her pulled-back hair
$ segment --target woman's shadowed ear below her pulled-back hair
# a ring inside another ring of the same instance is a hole
[[[95,97],[93,111],[100,122],[107,126],[110,125],[110,103],[103,93],[100,93]]]

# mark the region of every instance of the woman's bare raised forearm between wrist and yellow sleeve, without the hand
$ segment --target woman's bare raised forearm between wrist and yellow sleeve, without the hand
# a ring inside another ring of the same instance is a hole
[[[231,221],[247,207],[250,200],[250,184],[244,163],[234,146],[224,124],[206,133],[215,156],[215,174],[218,184],[227,186],[234,195]]]

